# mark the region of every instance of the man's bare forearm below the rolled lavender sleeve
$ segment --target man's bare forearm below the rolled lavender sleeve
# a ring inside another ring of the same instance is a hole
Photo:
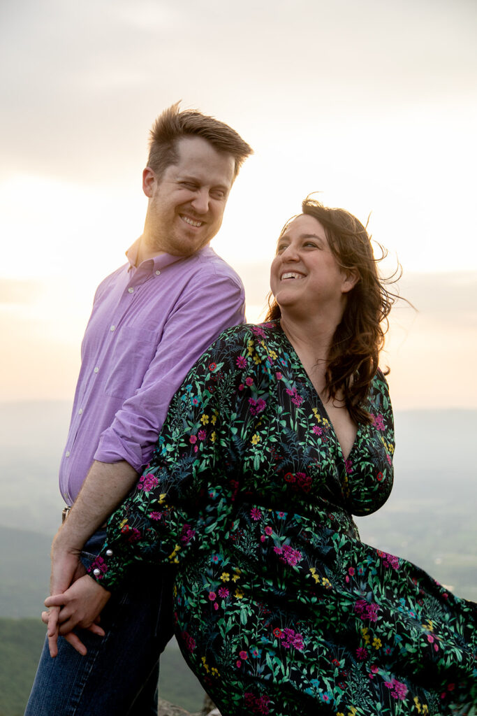
[[[122,460],[119,463],[94,461],[67,520],[56,536],[56,546],[80,550],[101,527],[137,482],[137,472]]]

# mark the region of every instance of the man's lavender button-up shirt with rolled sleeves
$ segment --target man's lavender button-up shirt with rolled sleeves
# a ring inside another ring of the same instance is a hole
[[[147,465],[169,402],[217,336],[245,320],[235,271],[209,246],[180,258],[129,263],[99,285],[82,342],[67,445],[59,468],[64,500],[77,498],[93,460]]]

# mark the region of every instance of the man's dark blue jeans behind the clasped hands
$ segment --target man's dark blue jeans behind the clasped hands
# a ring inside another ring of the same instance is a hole
[[[85,544],[85,566],[105,534]],[[45,639],[25,716],[157,716],[159,655],[174,631],[172,582],[167,571],[139,564],[102,611],[106,636],[78,630],[84,657],[59,637],[51,659]]]

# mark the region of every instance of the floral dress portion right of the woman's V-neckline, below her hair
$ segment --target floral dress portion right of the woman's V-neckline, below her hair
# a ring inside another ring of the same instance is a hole
[[[388,383],[378,371],[370,390],[371,423],[362,425],[348,460],[343,493],[350,513],[369,515],[383,506],[393,488],[394,420]]]

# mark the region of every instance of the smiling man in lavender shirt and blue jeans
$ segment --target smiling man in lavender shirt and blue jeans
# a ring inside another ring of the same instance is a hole
[[[82,344],[59,475],[73,506],[51,549],[51,594],[99,551],[100,528],[151,458],[187,371],[223,329],[244,321],[240,279],[208,244],[250,153],[230,127],[180,112],[178,103],[152,127],[144,231],[128,263],[97,289]],[[104,609],[104,631],[93,624],[81,639],[71,629],[87,624],[58,629],[59,610],[44,615],[49,649],[45,643],[26,716],[156,714],[159,654],[172,636],[169,589],[167,575],[138,568]]]

